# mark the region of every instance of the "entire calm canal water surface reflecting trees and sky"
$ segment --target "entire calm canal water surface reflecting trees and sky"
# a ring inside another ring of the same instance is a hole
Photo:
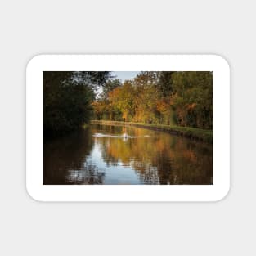
[[[44,141],[43,184],[213,184],[213,146],[95,124]]]

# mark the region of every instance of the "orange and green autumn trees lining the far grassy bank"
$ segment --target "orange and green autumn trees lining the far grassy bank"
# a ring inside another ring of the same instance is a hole
[[[106,82],[95,119],[213,129],[213,72],[141,72]]]

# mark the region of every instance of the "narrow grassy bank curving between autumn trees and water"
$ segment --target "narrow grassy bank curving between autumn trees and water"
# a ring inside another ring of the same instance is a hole
[[[152,130],[158,130],[163,132],[169,132],[177,136],[188,137],[198,141],[204,141],[213,143],[213,131],[204,130],[198,128],[182,127],[182,126],[170,126],[165,124],[143,124],[143,123],[132,123],[132,122],[121,122],[121,121],[107,121],[107,120],[92,120],[91,124],[105,124],[105,125],[116,125],[116,126],[136,126],[141,128],[149,128]]]

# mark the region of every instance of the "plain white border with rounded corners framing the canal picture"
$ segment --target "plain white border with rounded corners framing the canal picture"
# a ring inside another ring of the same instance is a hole
[[[213,185],[43,185],[43,71],[213,71]],[[230,69],[215,55],[41,55],[27,65],[26,186],[39,201],[216,201],[230,188]],[[38,166],[40,166],[38,168]]]

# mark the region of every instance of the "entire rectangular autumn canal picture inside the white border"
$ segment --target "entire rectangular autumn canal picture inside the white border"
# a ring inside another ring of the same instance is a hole
[[[213,71],[43,71],[43,185],[213,181]]]

